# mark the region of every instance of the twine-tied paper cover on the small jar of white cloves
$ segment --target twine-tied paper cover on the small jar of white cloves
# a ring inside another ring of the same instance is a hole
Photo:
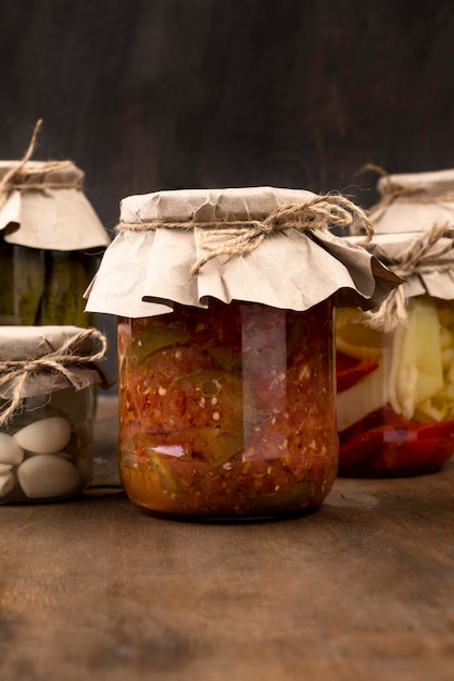
[[[17,403],[70,386],[109,387],[113,381],[100,366],[106,351],[96,329],[0,326],[0,397]]]

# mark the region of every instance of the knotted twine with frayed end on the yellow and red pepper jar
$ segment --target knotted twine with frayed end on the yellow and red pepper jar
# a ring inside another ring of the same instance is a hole
[[[449,237],[444,244],[438,244],[442,237]],[[380,256],[380,261],[403,280],[430,272],[454,270],[454,239],[447,223],[434,223],[430,230],[421,233],[396,258]],[[446,257],[451,255],[451,257]],[[373,329],[383,332],[393,331],[399,324],[407,323],[405,289],[401,284],[394,288],[375,310],[365,312]]]

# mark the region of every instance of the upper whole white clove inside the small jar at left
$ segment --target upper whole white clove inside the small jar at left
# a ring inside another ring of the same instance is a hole
[[[49,417],[26,425],[14,435],[16,443],[33,454],[54,454],[64,449],[71,438],[71,423],[61,417]]]

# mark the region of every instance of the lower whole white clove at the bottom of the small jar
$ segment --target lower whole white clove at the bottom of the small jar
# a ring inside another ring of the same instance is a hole
[[[63,457],[38,454],[25,459],[17,469],[17,478],[29,499],[49,499],[71,496],[80,490],[80,473]]]

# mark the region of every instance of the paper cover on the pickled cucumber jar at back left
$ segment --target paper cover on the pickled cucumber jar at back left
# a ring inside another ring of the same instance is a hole
[[[84,172],[71,161],[0,161],[0,232],[5,242],[48,250],[105,247],[110,237],[84,194]],[[3,183],[4,179],[4,183]]]

